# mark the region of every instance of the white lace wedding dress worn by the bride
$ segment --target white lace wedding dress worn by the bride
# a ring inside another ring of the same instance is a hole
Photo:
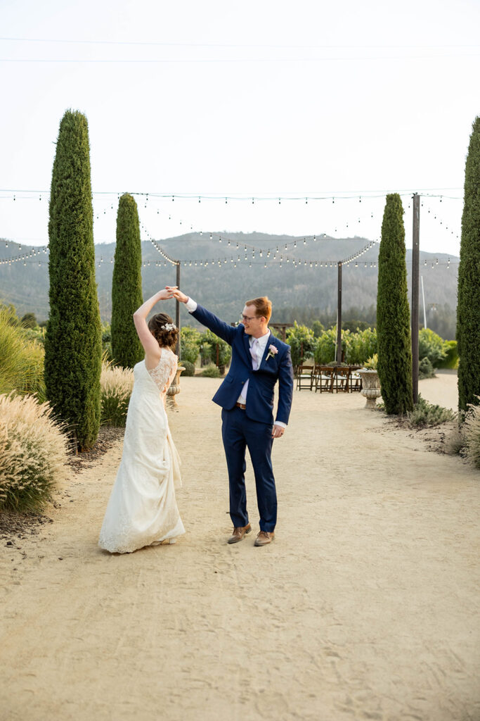
[[[162,348],[152,371],[145,361],[133,369],[122,461],[99,538],[99,546],[111,553],[172,542],[185,533],[175,497],[181,486],[180,459],[164,404],[176,369],[177,357],[169,348]]]

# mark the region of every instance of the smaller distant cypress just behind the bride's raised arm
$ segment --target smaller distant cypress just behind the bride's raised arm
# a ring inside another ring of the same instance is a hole
[[[117,213],[117,245],[112,280],[112,356],[133,368],[144,355],[132,315],[142,305],[142,247],[135,198],[124,193]]]

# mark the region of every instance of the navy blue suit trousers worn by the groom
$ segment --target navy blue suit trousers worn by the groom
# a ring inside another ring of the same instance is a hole
[[[241,408],[222,410],[222,438],[230,484],[230,518],[235,527],[248,523],[245,491],[245,449],[248,448],[255,473],[261,531],[276,525],[276,488],[271,464],[272,426],[251,420]]]

